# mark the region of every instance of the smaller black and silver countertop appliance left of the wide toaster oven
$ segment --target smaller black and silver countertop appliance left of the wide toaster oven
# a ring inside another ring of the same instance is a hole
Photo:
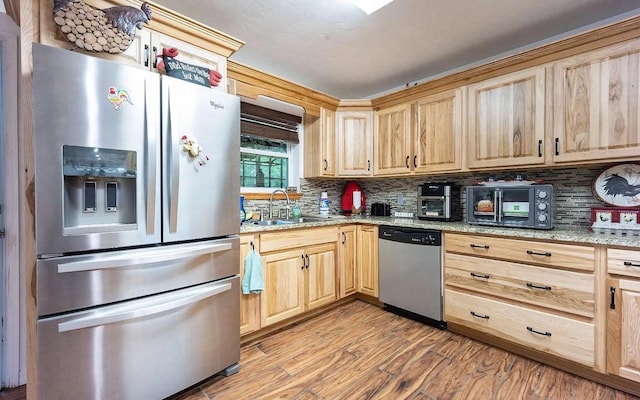
[[[418,219],[460,221],[460,187],[450,182],[428,182],[419,185]]]

